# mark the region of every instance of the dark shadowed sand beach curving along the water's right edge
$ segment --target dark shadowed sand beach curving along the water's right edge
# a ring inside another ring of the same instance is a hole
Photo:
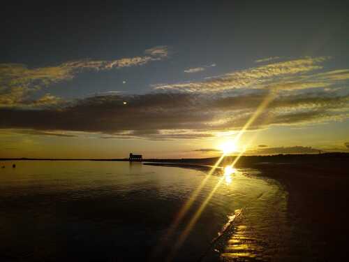
[[[265,164],[258,169],[262,175],[279,180],[288,191],[288,220],[303,233],[292,236],[295,253],[306,249],[306,260],[345,261],[348,163]]]

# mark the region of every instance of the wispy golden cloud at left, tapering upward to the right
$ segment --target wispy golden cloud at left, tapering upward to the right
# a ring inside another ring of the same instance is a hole
[[[71,80],[82,71],[107,71],[114,68],[142,66],[151,61],[160,61],[168,57],[168,48],[166,46],[155,47],[145,50],[144,53],[145,55],[142,57],[110,61],[82,59],[67,61],[58,66],[39,68],[28,68],[24,64],[0,64],[0,107],[17,107],[28,104],[31,94],[42,87]]]

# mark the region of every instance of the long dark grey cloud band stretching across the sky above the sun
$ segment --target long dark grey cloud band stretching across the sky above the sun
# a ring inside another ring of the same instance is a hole
[[[266,95],[160,92],[93,96],[37,110],[1,108],[0,128],[84,131],[118,138],[209,138],[221,131],[241,129]],[[325,92],[279,96],[249,129],[346,119],[348,101],[349,94],[329,96]]]

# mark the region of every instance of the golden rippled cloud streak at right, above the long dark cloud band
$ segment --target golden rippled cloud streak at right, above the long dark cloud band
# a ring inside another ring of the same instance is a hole
[[[304,89],[312,86],[319,87],[320,84],[313,80],[312,76],[315,76],[315,72],[323,68],[322,64],[328,59],[329,57],[305,57],[280,61],[274,64],[226,73],[214,78],[207,78],[204,81],[156,85],[154,89],[216,93],[227,92],[232,89]],[[308,75],[300,82],[298,80],[299,76],[304,74]],[[320,85],[320,87],[323,87],[323,85]]]

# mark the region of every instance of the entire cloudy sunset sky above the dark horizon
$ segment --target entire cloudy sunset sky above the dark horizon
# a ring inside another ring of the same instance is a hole
[[[349,152],[346,1],[4,5],[0,157]]]

